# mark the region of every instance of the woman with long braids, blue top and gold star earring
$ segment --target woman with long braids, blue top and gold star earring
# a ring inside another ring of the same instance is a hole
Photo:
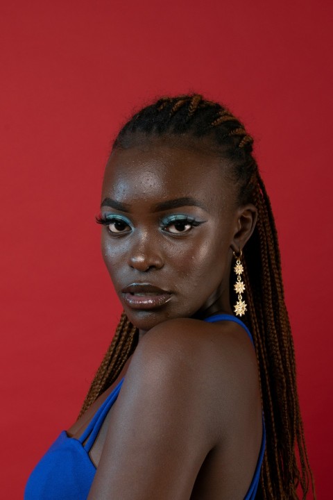
[[[314,487],[252,144],[200,95],[159,99],[121,129],[97,222],[124,313],[26,500],[291,499]]]

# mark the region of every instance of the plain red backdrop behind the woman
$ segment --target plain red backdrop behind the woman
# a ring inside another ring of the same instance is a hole
[[[13,1],[0,23],[1,497],[22,498],[76,419],[117,324],[94,223],[112,137],[155,95],[196,91],[256,138],[309,458],[331,498],[332,2]]]

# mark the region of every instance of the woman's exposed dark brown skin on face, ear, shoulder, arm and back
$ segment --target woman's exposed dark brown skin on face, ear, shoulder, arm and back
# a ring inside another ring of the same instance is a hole
[[[239,324],[201,321],[233,314],[232,251],[257,220],[251,203],[237,206],[223,168],[216,155],[165,139],[110,157],[102,252],[139,344],[68,431],[78,437],[126,374],[90,452],[97,471],[89,500],[244,499],[253,478],[262,442],[255,351]],[[123,292],[132,283],[162,288],[167,298],[133,306]]]

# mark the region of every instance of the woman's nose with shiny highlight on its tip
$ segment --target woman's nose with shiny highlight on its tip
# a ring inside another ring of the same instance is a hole
[[[128,256],[128,265],[140,272],[161,269],[164,265],[162,248],[149,234],[141,235],[133,242]]]

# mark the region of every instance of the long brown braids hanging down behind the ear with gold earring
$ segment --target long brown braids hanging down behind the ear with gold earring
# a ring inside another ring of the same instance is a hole
[[[272,224],[271,204],[262,179],[253,193],[253,201],[258,209],[256,230],[260,240],[262,276],[259,276],[259,281],[257,280],[255,286],[252,287],[251,278],[247,273],[245,280],[248,290],[250,327],[259,360],[268,436],[266,460],[264,460],[260,483],[261,490],[264,490],[262,497],[266,498],[266,490],[271,490],[271,487],[266,487],[266,485],[275,483],[271,496],[268,498],[297,499],[296,487],[300,483],[303,498],[305,498],[309,491],[309,475],[313,490],[314,478],[309,467],[300,417],[295,353],[287,308],[283,300],[278,238],[275,224]],[[250,267],[253,259],[253,251],[250,256],[247,251],[248,248],[250,249],[250,241],[244,249],[246,269]],[[263,335],[265,332],[266,335]],[[296,461],[295,440],[300,455],[301,472]],[[266,476],[266,481],[264,476]],[[274,481],[274,478],[278,478],[278,481]],[[315,492],[314,498],[316,498]]]

